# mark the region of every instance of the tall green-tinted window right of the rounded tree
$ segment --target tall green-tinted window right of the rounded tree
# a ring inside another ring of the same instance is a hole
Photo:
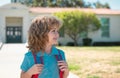
[[[109,18],[101,18],[101,36],[109,37],[110,36],[110,20]]]

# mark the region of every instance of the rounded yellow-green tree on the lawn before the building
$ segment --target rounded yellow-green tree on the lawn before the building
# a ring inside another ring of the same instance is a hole
[[[65,33],[78,45],[78,39],[83,32],[98,30],[101,26],[94,13],[82,11],[64,11],[54,13],[55,16],[63,21]]]

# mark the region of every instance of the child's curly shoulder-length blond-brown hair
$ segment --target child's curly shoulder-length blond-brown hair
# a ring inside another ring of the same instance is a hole
[[[61,26],[61,21],[53,16],[43,16],[33,19],[28,31],[28,48],[33,53],[44,52],[48,42],[49,31]]]

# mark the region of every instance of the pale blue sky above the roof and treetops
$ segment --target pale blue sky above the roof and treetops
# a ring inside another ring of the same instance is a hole
[[[111,9],[113,10],[120,10],[120,0],[84,0],[86,2],[96,2],[100,1],[102,4],[106,2],[110,5]],[[11,0],[0,0],[0,6],[10,3]]]

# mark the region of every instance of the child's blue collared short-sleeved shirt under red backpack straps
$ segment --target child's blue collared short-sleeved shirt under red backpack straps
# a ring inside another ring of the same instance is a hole
[[[60,54],[62,56],[62,59],[65,61],[65,55],[62,50],[59,50]],[[55,55],[59,55],[58,49],[56,47],[52,47],[52,51],[50,54],[47,54],[46,52],[43,54],[41,52],[38,52],[36,57],[38,59],[37,62],[40,62],[40,56],[43,56],[43,62],[44,67],[39,74],[39,78],[59,78],[59,68],[57,65],[57,59],[55,58]],[[21,64],[22,71],[26,72],[28,69],[30,69],[35,64],[34,57],[32,55],[32,52],[29,51],[25,54],[25,57],[23,59],[23,62]]]

